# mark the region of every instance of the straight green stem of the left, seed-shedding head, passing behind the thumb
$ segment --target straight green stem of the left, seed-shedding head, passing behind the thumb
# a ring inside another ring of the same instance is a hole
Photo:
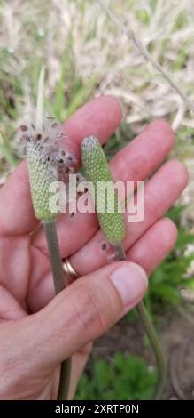
[[[63,269],[61,260],[58,235],[56,229],[56,221],[43,221],[43,226],[46,233],[47,244],[50,253],[50,264],[55,285],[55,293],[60,293],[67,285],[67,277]],[[58,399],[65,400],[68,397],[69,383],[71,377],[71,358],[66,360],[61,365],[60,382],[58,389]]]

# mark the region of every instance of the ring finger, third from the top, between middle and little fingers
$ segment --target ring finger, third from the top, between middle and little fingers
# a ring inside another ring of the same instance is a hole
[[[144,220],[141,222],[128,222],[126,218],[126,251],[139,239],[144,232],[151,228],[172,206],[180,196],[188,181],[188,173],[182,163],[169,161],[163,165],[150,181],[145,185],[144,194]],[[89,271],[99,269],[107,262],[107,253],[102,243],[105,238],[101,231],[84,245],[81,250],[70,257],[75,271],[79,275],[88,274]]]

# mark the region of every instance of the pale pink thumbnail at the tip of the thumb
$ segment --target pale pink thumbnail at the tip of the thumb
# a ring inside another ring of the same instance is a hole
[[[126,262],[113,270],[110,279],[120,293],[124,306],[131,305],[140,299],[148,285],[144,269],[133,262]]]

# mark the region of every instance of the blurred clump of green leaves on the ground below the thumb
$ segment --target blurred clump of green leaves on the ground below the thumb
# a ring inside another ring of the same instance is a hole
[[[117,352],[112,363],[97,359],[93,368],[95,374],[82,375],[76,399],[139,400],[152,396],[156,373],[143,358]]]

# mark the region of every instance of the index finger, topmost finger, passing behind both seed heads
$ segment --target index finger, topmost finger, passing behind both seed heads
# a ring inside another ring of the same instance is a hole
[[[102,143],[120,125],[121,111],[117,100],[109,96],[90,101],[63,125],[66,146],[79,154],[84,136],[93,134]],[[74,144],[74,145],[73,145]],[[9,176],[0,191],[0,233],[24,234],[35,229],[37,221],[31,202],[26,162]]]

